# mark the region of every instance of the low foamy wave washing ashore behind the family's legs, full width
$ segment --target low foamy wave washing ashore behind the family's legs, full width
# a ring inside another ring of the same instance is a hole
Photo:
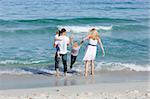
[[[84,64],[76,63],[74,65],[73,71],[76,73],[84,72]],[[119,63],[119,62],[96,62],[95,71],[150,71],[149,65],[136,65],[131,63]],[[63,70],[61,70],[63,72]],[[53,66],[41,66],[41,67],[15,67],[15,68],[5,68],[0,70],[0,74],[54,74],[54,65]]]

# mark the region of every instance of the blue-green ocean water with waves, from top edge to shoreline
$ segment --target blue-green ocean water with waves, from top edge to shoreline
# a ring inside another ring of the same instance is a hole
[[[0,74],[53,73],[55,32],[81,41],[95,27],[95,70],[150,71],[149,0],[0,0]],[[72,31],[72,32],[70,32]],[[84,70],[85,42],[73,69]],[[70,47],[68,47],[70,50]],[[70,53],[68,53],[68,67]],[[61,65],[62,66],[62,65]]]

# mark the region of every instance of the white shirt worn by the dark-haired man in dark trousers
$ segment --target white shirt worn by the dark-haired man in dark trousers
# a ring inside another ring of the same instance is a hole
[[[66,54],[67,53],[67,44],[69,44],[69,38],[67,36],[59,36],[59,48],[60,48],[60,54]]]

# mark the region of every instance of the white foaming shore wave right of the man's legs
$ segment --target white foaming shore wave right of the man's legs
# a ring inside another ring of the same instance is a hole
[[[78,72],[84,72],[84,64],[78,64],[73,67],[73,70]],[[117,62],[95,62],[95,71],[150,71],[150,65],[136,65],[129,63],[117,63]]]

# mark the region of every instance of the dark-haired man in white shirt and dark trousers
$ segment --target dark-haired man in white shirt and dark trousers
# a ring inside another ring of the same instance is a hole
[[[66,29],[61,29],[60,36],[59,36],[59,54],[60,57],[58,57],[58,54],[56,52],[55,54],[55,70],[56,70],[56,76],[59,76],[59,61],[60,58],[62,58],[62,63],[64,67],[64,75],[67,74],[67,46],[70,44],[69,38],[66,36]]]

